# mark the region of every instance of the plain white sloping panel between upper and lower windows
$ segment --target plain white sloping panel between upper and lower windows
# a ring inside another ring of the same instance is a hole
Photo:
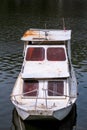
[[[26,62],[22,78],[65,78],[69,77],[67,61]]]

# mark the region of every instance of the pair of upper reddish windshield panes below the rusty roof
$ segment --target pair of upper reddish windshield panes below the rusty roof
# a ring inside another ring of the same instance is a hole
[[[48,61],[65,61],[66,55],[63,47],[29,47],[26,53],[27,61],[43,61],[45,60],[45,50],[47,51]]]

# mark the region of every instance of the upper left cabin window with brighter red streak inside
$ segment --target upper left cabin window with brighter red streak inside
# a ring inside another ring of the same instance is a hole
[[[45,50],[42,47],[30,47],[27,49],[27,61],[42,61],[45,57]]]

